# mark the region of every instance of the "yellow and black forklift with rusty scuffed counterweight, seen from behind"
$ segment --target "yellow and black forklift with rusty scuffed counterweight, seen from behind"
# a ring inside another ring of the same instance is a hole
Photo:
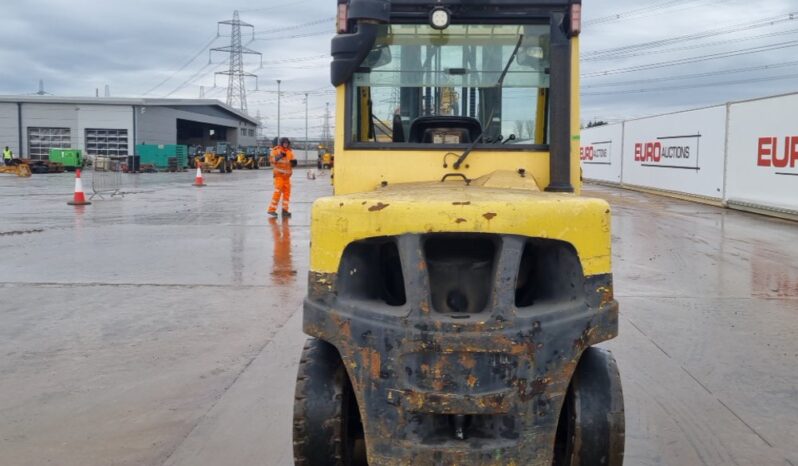
[[[580,195],[581,6],[338,1],[295,464],[622,465],[620,375],[595,346],[618,333],[610,208]]]

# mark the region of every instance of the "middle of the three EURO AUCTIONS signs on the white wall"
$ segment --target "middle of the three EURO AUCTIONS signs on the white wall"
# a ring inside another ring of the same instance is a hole
[[[701,135],[663,136],[655,141],[636,142],[634,160],[643,167],[700,170],[698,154]]]

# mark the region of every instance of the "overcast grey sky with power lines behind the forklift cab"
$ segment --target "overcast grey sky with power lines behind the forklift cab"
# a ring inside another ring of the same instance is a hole
[[[205,86],[206,97],[224,101],[226,78],[219,76],[214,87],[213,72],[226,69],[227,56],[214,53],[209,64],[207,49],[229,44],[229,29],[217,37],[216,22],[238,9],[255,26],[256,40],[245,30],[245,44],[263,53],[263,68],[257,57],[246,62],[260,76],[259,91],[248,82],[250,113],[260,111],[267,133],[276,126],[276,79],[285,91],[284,133],[304,133],[304,92],[311,94],[311,135],[321,131],[325,103],[333,103],[334,0],[3,3],[0,94],[34,93],[42,79],[45,90],[59,96],[91,96],[97,88],[102,95],[107,84],[118,97],[197,98]],[[798,91],[798,0],[584,0],[584,17],[585,121]],[[699,33],[711,34],[617,51]],[[676,60],[690,63],[669,64]],[[695,74],[704,76],[685,77]]]

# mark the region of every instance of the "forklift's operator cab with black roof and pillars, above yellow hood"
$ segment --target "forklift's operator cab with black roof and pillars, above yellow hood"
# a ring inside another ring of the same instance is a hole
[[[350,157],[336,167],[336,194],[426,179],[419,164],[441,171],[467,150],[474,162],[457,168],[470,179],[523,168],[541,189],[578,192],[570,155],[579,145],[571,134],[579,131],[572,11],[580,7],[568,0],[340,3],[339,32],[346,33],[332,44],[343,123],[336,142]],[[382,12],[389,17],[377,18]],[[375,171],[365,157],[405,163]]]

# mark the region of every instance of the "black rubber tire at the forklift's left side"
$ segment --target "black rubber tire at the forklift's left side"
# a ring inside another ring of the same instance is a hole
[[[346,368],[334,346],[305,343],[294,396],[296,466],[367,466],[363,426]]]

